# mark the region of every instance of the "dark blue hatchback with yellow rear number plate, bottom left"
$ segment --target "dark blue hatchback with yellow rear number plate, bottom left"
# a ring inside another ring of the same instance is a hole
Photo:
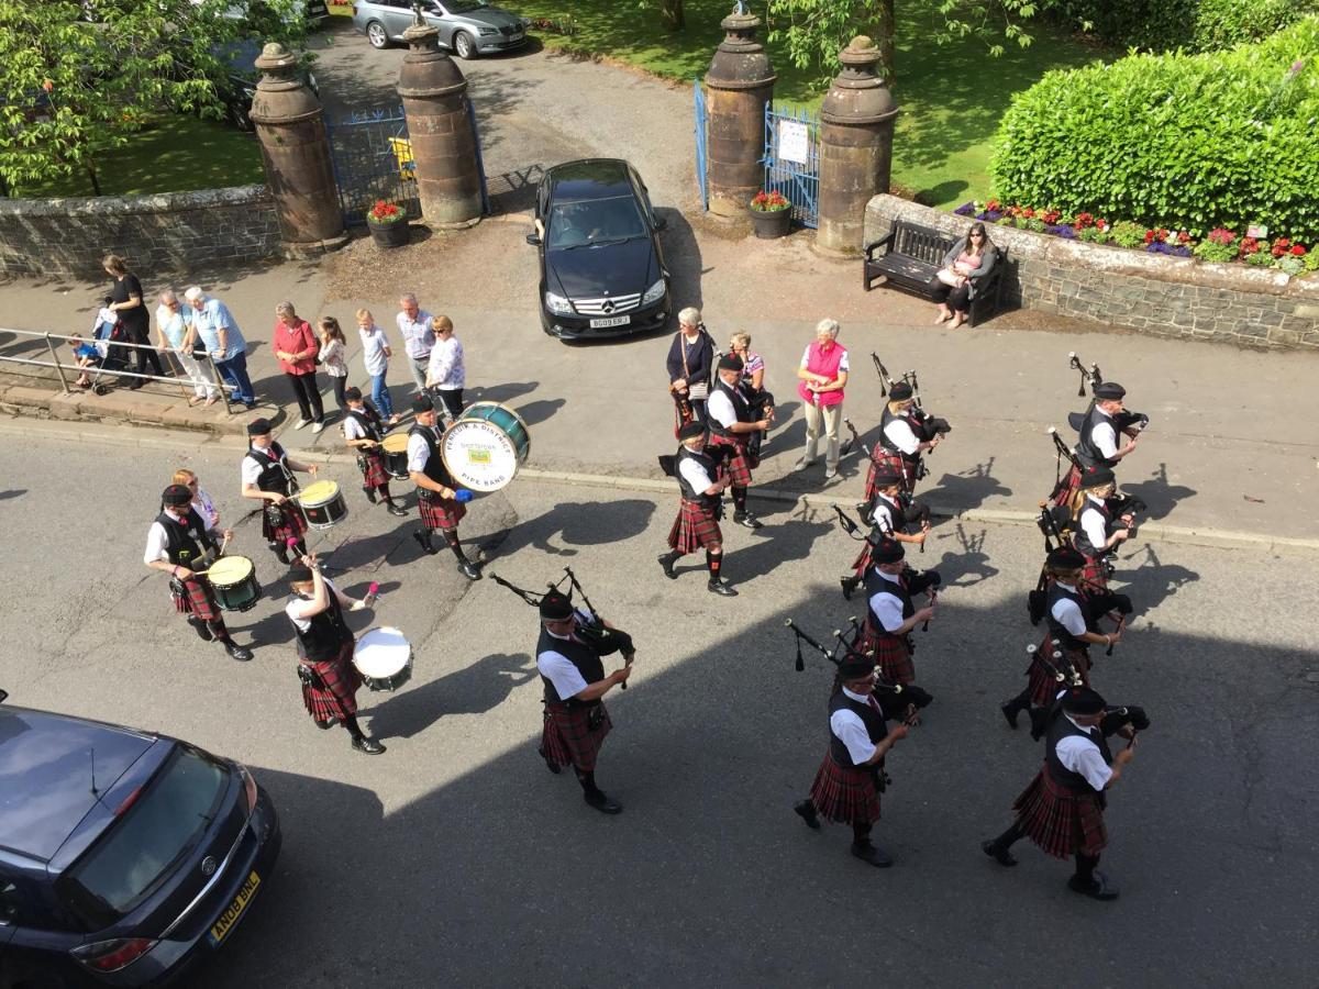
[[[247,918],[280,841],[236,762],[0,705],[0,989],[174,981]]]

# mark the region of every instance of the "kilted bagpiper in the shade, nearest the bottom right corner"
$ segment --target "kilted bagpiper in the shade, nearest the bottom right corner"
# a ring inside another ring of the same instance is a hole
[[[1089,687],[1071,687],[1059,696],[1049,724],[1045,765],[1013,803],[1017,819],[998,837],[980,848],[1000,865],[1016,865],[1012,845],[1029,837],[1055,858],[1075,856],[1076,872],[1068,889],[1095,899],[1116,899],[1117,889],[1096,872],[1108,845],[1104,827],[1107,791],[1116,783],[1134,750],[1134,717],[1109,715],[1104,699]],[[1144,712],[1140,712],[1145,725]],[[1119,733],[1130,744],[1116,756],[1105,733]]]

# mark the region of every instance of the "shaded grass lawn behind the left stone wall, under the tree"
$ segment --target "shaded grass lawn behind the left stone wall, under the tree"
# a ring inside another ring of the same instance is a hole
[[[104,195],[224,189],[265,181],[253,135],[186,113],[157,117],[125,146],[100,152],[96,161]],[[77,171],[25,186],[15,195],[82,196],[94,191],[86,173]]]

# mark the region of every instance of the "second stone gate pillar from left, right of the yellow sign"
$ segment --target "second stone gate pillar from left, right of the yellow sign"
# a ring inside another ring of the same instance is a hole
[[[467,79],[439,50],[439,30],[419,13],[404,32],[409,51],[398,70],[421,212],[431,227],[471,227],[481,219],[476,133],[467,116]]]

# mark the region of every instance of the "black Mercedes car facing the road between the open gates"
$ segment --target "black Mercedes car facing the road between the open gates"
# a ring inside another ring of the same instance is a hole
[[[555,165],[536,193],[541,326],[559,339],[599,339],[669,323],[669,272],[637,170],[619,158]]]

